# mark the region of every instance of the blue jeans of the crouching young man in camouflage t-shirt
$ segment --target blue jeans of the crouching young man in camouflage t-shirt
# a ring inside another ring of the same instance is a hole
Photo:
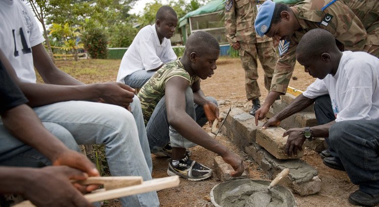
[[[208,122],[204,108],[193,102],[192,89],[188,88],[185,92],[186,95],[186,112],[189,116],[196,121],[196,123],[202,127]],[[215,104],[217,101],[212,97],[207,99]],[[160,151],[167,143],[171,142],[172,147],[189,148],[196,146],[195,143],[181,136],[174,128],[172,128],[167,120],[167,110],[165,97],[158,102],[155,107],[152,116],[146,126],[147,138],[150,144],[150,150],[152,153]]]

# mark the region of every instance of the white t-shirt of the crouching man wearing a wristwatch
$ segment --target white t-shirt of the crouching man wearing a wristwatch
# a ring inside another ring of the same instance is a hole
[[[303,95],[330,95],[336,122],[379,120],[379,59],[365,52],[345,51],[336,74],[316,79]]]

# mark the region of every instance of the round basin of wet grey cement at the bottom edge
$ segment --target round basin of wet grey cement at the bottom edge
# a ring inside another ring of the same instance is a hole
[[[276,185],[267,190],[269,181],[239,179],[217,184],[211,190],[215,207],[294,207],[295,197],[287,188]]]

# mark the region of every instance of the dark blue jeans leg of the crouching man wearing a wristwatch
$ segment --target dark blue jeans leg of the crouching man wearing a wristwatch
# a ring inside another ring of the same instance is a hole
[[[351,120],[329,129],[331,147],[359,190],[379,194],[379,120]]]

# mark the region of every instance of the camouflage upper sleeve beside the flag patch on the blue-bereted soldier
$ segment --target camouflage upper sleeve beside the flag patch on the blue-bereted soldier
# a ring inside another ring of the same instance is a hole
[[[345,4],[336,1],[333,6],[324,10],[326,15],[323,18],[332,18],[329,24],[321,22],[320,28],[329,31],[342,44],[346,50],[362,51],[366,40],[367,33],[358,17]],[[329,15],[329,16],[328,16]],[[330,16],[333,15],[333,16]]]

